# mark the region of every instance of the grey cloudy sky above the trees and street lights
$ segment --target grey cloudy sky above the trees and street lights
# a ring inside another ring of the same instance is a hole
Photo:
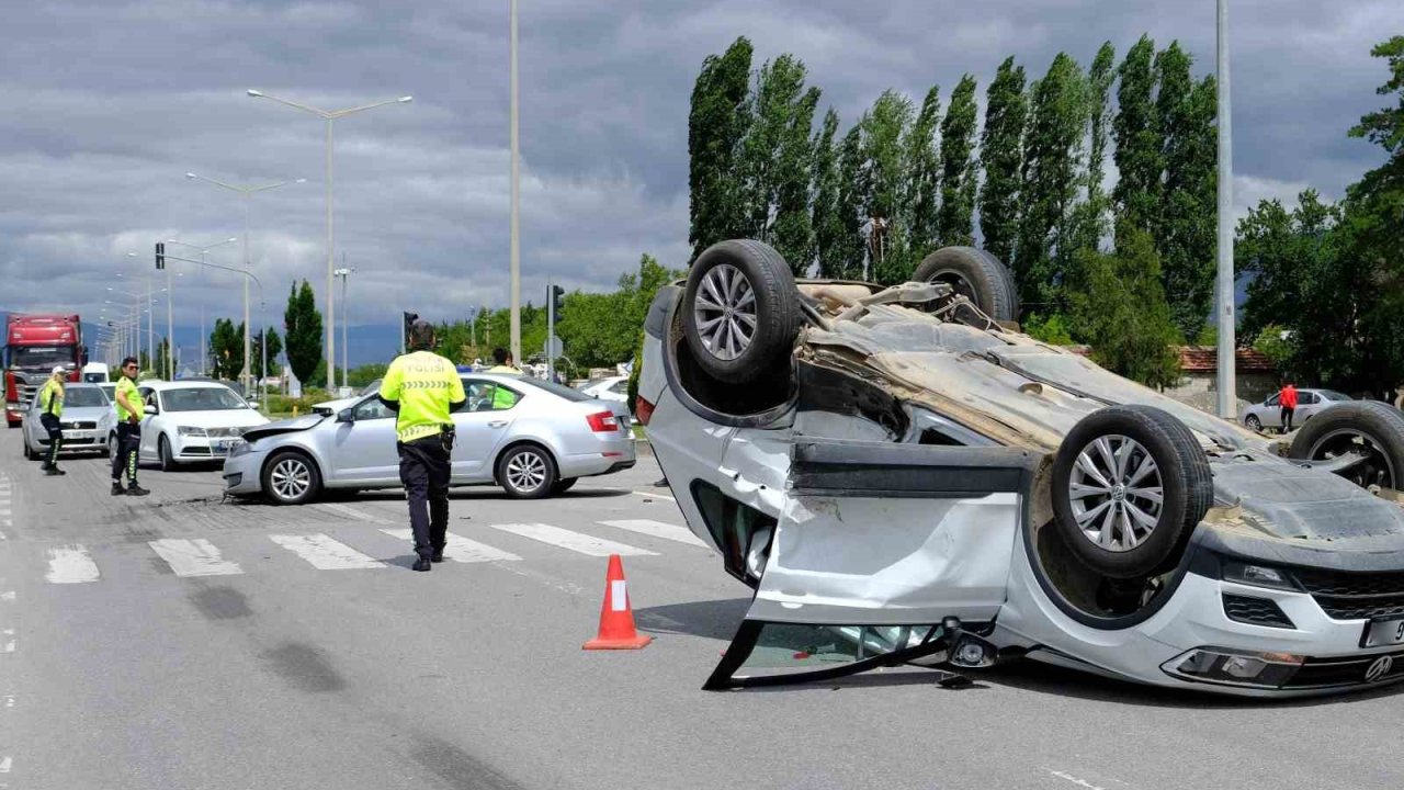
[[[524,298],[541,302],[548,276],[604,290],[640,253],[685,261],[688,94],[737,35],[757,65],[803,59],[847,125],[889,87],[946,94],[970,72],[983,93],[1007,55],[1038,76],[1059,51],[1088,63],[1106,39],[1120,58],[1143,31],[1178,38],[1205,73],[1214,1],[521,0],[519,25]],[[108,287],[145,290],[153,242],[241,236],[240,198],[187,171],[306,179],[254,198],[253,270],[278,323],[293,278],[320,302],[324,125],[250,87],[324,108],[414,96],[336,127],[352,323],[504,305],[507,32],[507,0],[7,1],[0,311],[97,316]],[[1379,163],[1345,131],[1383,104],[1369,49],[1394,34],[1400,0],[1233,1],[1240,207],[1309,184],[1339,197]],[[211,260],[236,266],[237,247]],[[237,276],[184,271],[177,325],[239,309]]]

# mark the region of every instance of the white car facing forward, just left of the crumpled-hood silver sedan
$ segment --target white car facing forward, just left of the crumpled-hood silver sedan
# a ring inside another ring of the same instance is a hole
[[[178,464],[222,461],[243,444],[251,427],[268,423],[257,402],[213,381],[143,381],[138,392],[146,403],[139,462],[170,471]],[[108,437],[115,448],[117,433]]]

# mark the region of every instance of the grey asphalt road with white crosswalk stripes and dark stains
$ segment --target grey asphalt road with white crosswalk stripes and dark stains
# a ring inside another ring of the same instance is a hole
[[[382,531],[406,526],[397,492],[225,503],[198,470],[111,498],[104,461],[44,478],[18,440],[0,432],[6,790],[1404,786],[1398,692],[1254,703],[1038,663],[965,690],[900,669],[701,692],[748,590],[664,527],[604,523],[682,523],[647,458],[553,500],[455,492],[483,561],[414,574]],[[649,648],[580,649],[605,574],[585,537],[651,552],[625,558]]]

